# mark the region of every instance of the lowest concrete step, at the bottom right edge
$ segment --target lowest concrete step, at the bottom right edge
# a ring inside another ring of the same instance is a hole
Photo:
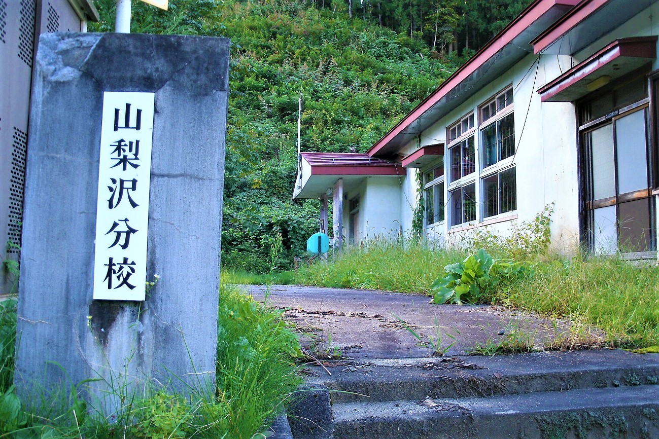
[[[658,438],[659,386],[335,403],[333,439]],[[295,435],[294,435],[295,437]]]

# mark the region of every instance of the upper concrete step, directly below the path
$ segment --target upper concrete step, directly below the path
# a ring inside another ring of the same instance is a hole
[[[332,403],[492,397],[659,383],[659,355],[621,350],[374,360],[314,369]],[[659,391],[659,387],[657,388]]]

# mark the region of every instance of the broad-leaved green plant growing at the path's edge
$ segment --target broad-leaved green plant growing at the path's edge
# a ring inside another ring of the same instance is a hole
[[[534,265],[525,261],[497,261],[484,249],[469,255],[464,261],[444,267],[446,276],[438,278],[430,286],[434,303],[478,303],[488,289],[502,280],[520,278],[532,274]]]

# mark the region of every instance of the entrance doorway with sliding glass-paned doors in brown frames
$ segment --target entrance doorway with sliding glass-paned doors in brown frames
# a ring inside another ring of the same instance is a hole
[[[583,238],[591,253],[645,257],[656,249],[646,90],[641,78],[580,107]]]

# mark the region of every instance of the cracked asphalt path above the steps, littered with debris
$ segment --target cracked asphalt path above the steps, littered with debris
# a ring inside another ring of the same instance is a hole
[[[501,340],[540,348],[569,334],[568,322],[500,306],[436,305],[420,294],[284,285],[250,286],[249,292],[285,309],[285,319],[304,334],[302,346],[322,358],[429,357],[436,350],[429,337],[437,345],[438,334],[445,355],[465,355]]]

